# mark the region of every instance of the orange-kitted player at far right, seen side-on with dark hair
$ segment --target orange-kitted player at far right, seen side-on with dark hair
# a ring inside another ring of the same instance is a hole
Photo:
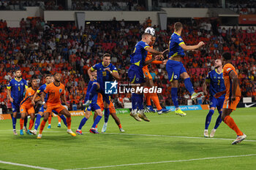
[[[230,117],[230,114],[236,110],[236,106],[240,101],[241,89],[238,85],[238,74],[235,67],[231,64],[231,54],[223,53],[222,60],[224,63],[223,65],[225,65],[223,67],[223,78],[226,90],[216,93],[215,96],[216,98],[219,98],[219,96],[226,93],[223,104],[222,120],[232,128],[233,131],[236,131],[237,138],[232,142],[232,144],[238,144],[246,139],[246,135],[240,131],[233,118]]]

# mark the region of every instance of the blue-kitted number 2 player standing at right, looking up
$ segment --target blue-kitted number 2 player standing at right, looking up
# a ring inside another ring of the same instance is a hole
[[[207,85],[210,84],[209,93],[210,93],[210,110],[208,115],[206,116],[206,125],[203,135],[208,137],[208,126],[211,123],[211,116],[214,115],[214,110],[218,109],[219,117],[216,120],[215,126],[211,131],[210,137],[214,137],[214,134],[219,127],[219,124],[222,123],[222,107],[225,100],[225,94],[220,96],[219,98],[214,98],[214,95],[218,92],[224,91],[225,83],[223,79],[223,69],[222,69],[222,61],[217,59],[214,63],[215,69],[208,73],[206,77],[206,81],[203,83],[203,93],[205,95],[207,92]]]

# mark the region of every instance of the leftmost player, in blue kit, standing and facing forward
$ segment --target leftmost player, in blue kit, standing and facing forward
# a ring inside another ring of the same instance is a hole
[[[15,78],[12,79],[9,84],[7,85],[7,95],[10,98],[10,101],[12,103],[12,128],[13,128],[13,134],[17,135],[16,132],[16,117],[17,113],[20,111],[20,102],[24,98],[24,92],[28,88],[28,84],[26,80],[24,80],[21,76],[21,71],[20,69],[15,71]],[[24,130],[27,131],[26,129],[26,122],[27,122],[27,117],[25,118],[24,121]]]

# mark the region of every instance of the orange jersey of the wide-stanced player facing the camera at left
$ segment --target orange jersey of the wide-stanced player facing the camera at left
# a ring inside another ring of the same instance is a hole
[[[48,93],[48,99],[46,104],[61,104],[61,95],[65,93],[65,86],[60,83],[59,86],[56,86],[54,82],[51,82],[49,85],[46,86],[45,93]]]

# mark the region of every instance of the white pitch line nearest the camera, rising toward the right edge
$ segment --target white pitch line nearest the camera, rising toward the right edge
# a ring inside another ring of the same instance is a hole
[[[130,163],[130,164],[122,164],[122,165],[116,165],[116,166],[94,166],[94,167],[81,168],[81,169],[105,169],[105,168],[120,167],[120,166],[139,166],[139,165],[148,165],[148,164],[157,164],[157,163],[176,163],[176,162],[201,161],[201,160],[219,159],[219,158],[238,158],[238,157],[247,157],[247,156],[256,156],[256,154],[220,156],[220,157],[211,157],[211,158],[195,158],[195,159],[176,160],[176,161],[160,161],[160,162],[148,162],[148,163]],[[80,170],[80,169],[65,169],[65,170]]]

